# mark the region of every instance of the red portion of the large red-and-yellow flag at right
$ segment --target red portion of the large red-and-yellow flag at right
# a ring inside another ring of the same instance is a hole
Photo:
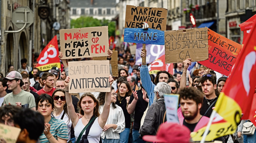
[[[242,119],[248,119],[256,86],[256,22],[245,45],[238,55],[235,66],[226,82],[225,95],[233,98],[241,107]]]

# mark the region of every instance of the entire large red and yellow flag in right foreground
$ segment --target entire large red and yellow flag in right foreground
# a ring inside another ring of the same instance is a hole
[[[248,119],[256,86],[256,22],[237,57],[236,63],[215,105],[216,115],[205,141],[211,141],[236,131],[241,114]],[[255,115],[255,114],[254,114]],[[194,141],[200,141],[206,125],[191,133]]]

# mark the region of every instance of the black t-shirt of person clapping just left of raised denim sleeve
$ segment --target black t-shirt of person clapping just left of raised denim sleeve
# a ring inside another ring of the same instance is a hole
[[[134,130],[139,130],[141,118],[148,107],[148,102],[146,102],[143,99],[142,89],[137,90],[137,94],[138,94],[138,101],[136,103],[135,112],[134,112],[134,123],[133,123]],[[147,95],[147,98],[148,98],[148,95]],[[129,104],[133,102],[133,99],[134,99],[134,96],[132,94],[130,97]]]

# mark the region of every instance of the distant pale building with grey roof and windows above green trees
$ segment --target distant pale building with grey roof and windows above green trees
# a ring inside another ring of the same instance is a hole
[[[96,19],[111,20],[116,15],[116,0],[72,0],[70,18],[92,16]]]

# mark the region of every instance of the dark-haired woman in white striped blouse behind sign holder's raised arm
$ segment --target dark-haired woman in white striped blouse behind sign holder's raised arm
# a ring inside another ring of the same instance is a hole
[[[106,92],[100,92],[98,96],[99,101],[99,112],[103,112],[103,107],[105,104]],[[118,143],[120,142],[119,133],[123,132],[125,127],[125,119],[123,110],[120,106],[116,105],[117,93],[115,93],[114,87],[111,88],[111,104],[110,111],[108,115],[108,120],[102,130],[101,139],[102,143]]]

